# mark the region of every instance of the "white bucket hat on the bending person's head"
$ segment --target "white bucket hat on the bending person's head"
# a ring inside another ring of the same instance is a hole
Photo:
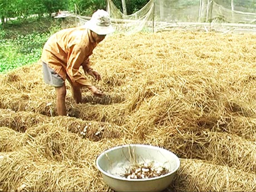
[[[85,27],[98,35],[107,35],[115,31],[111,25],[109,13],[103,9],[93,13],[91,19],[85,23]]]

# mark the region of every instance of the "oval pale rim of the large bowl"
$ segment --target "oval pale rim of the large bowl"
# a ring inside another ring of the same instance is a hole
[[[173,156],[174,156],[174,158],[175,158],[175,160],[176,160],[178,165],[176,166],[176,168],[174,170],[170,171],[168,174],[156,176],[155,178],[147,178],[147,179],[127,179],[127,178],[122,178],[121,176],[112,175],[110,173],[107,173],[105,170],[101,169],[101,167],[99,165],[99,160],[101,159],[101,157],[103,155],[105,155],[107,152],[110,152],[110,151],[113,151],[113,150],[116,150],[116,149],[120,149],[120,148],[123,148],[123,147],[129,147],[129,146],[143,146],[143,147],[146,147],[146,148],[154,148],[154,149],[161,149],[161,150],[168,151],[171,154],[173,154]],[[101,154],[96,159],[96,166],[97,166],[97,168],[99,169],[99,171],[102,174],[104,174],[106,176],[109,176],[110,178],[114,178],[114,179],[122,180],[122,181],[140,181],[141,182],[141,181],[152,181],[152,180],[157,180],[157,179],[160,179],[160,178],[166,178],[169,175],[175,173],[179,169],[179,167],[180,167],[180,159],[173,152],[171,152],[169,150],[166,150],[166,149],[164,149],[162,147],[159,147],[159,146],[146,145],[146,144],[127,144],[127,145],[120,145],[120,146],[111,147],[110,149],[107,149],[107,150],[101,152]]]

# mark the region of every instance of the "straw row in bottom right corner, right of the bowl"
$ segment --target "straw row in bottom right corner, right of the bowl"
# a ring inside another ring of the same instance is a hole
[[[204,161],[182,159],[176,191],[255,191],[256,175]],[[215,185],[213,185],[213,183]]]

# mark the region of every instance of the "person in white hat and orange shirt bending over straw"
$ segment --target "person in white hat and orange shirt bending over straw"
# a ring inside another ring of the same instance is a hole
[[[43,63],[43,78],[56,90],[56,108],[58,115],[67,115],[65,97],[65,80],[71,84],[72,97],[78,104],[82,100],[81,87],[85,86],[95,96],[103,93],[87,82],[84,73],[88,73],[97,81],[100,74],[90,66],[89,56],[93,49],[104,40],[105,36],[114,32],[109,14],[99,9],[93,13],[85,26],[63,29],[52,35],[43,47],[41,60]]]

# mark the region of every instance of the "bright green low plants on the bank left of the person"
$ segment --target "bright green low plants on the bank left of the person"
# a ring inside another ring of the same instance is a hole
[[[51,18],[12,21],[0,29],[0,73],[40,60],[43,45],[59,29],[61,22]]]

